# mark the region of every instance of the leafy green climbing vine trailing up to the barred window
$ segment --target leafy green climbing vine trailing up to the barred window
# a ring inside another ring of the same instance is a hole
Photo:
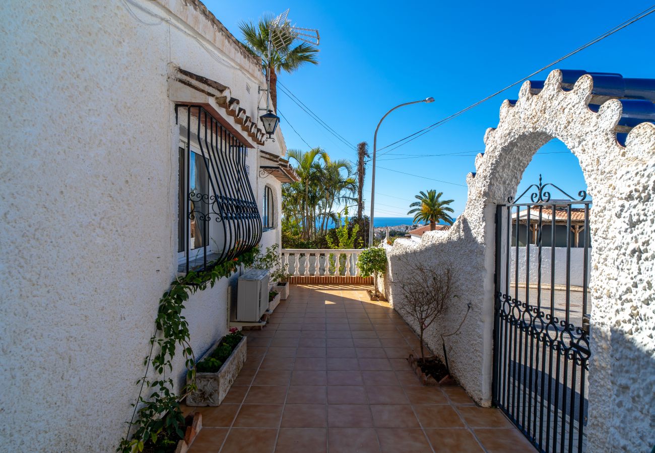
[[[121,440],[117,452],[142,452],[146,447],[166,451],[174,449],[178,440],[184,437],[184,416],[179,402],[196,390],[196,361],[191,348],[189,323],[182,314],[184,302],[196,291],[214,287],[221,278],[231,276],[241,264],[252,266],[258,254],[259,247],[255,247],[232,261],[215,264],[200,272],[189,271],[171,282],[170,289],[159,299],[155,334],[150,338],[150,353],[143,359],[145,373],[136,382],[141,386],[139,397],[132,404],[132,420],[128,422],[126,436]],[[181,346],[187,367],[187,384],[181,389],[180,395],[174,391],[173,379],[166,376],[167,372],[173,371],[173,358],[178,346]],[[154,380],[148,377],[151,367],[158,376]],[[144,390],[149,396],[143,397]],[[132,428],[134,433],[130,437]]]

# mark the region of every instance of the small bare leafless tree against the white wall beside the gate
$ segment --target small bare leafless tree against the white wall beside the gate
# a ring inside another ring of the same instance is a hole
[[[447,264],[427,268],[424,264],[412,263],[410,259],[401,258],[400,262],[407,265],[407,276],[398,285],[402,293],[402,304],[397,310],[419,325],[421,360],[425,363],[423,334],[434,321],[443,316],[447,301],[453,298],[453,270]]]

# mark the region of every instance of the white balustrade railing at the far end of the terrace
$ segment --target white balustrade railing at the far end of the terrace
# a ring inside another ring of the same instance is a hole
[[[282,249],[282,268],[295,277],[360,276],[362,249]],[[301,255],[303,255],[301,257]],[[341,259],[345,258],[341,263]]]

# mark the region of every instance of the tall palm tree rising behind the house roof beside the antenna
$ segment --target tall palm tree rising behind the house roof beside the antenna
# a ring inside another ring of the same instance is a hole
[[[305,63],[318,64],[316,52],[318,48],[308,43],[291,46],[293,39],[284,39],[284,43],[276,40],[276,48],[271,48],[269,56],[269,29],[271,29],[272,16],[264,16],[257,24],[242,22],[239,24],[244,35],[244,45],[250,52],[261,58],[266,77],[271,77],[271,101],[274,111],[278,108],[278,73],[284,71],[292,73]]]

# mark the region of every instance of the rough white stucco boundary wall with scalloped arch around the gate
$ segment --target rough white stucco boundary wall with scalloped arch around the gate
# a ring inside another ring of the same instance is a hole
[[[504,101],[498,127],[485,134],[485,153],[476,157],[477,174],[468,175],[464,213],[445,235],[425,234],[419,244],[396,240],[385,285],[398,304],[394,282],[407,272],[402,259],[452,266],[458,298],[428,344],[440,353],[438,333],[454,329],[471,304],[460,333],[447,342],[449,360],[468,393],[489,405],[495,206],[515,194],[534,153],[560,139],[580,160],[593,198],[589,450],[648,451],[655,443],[655,126],[633,128],[622,147],[614,132],[621,103],[609,100],[594,113],[587,105],[592,86],[584,75],[565,92],[561,73],[552,71],[539,94],[525,82],[515,105]]]

